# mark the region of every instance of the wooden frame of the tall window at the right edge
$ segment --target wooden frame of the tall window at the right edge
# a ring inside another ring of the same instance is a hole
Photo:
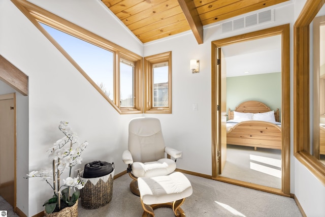
[[[307,0],[294,25],[294,156],[325,185],[325,165],[310,154],[309,25],[324,0]]]

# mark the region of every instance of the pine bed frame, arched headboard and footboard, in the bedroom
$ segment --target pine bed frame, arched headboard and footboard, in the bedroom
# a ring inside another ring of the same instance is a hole
[[[246,101],[239,104],[235,111],[263,113],[271,111],[268,106],[258,101]],[[274,111],[275,120],[280,122],[279,109]],[[228,119],[234,119],[234,112],[229,109]],[[227,133],[227,144],[261,148],[281,149],[281,128],[274,123],[260,120],[248,120],[238,123]]]

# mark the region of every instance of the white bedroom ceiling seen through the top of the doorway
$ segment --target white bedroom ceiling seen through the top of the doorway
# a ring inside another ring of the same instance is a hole
[[[227,77],[281,72],[281,35],[223,46],[222,51]]]

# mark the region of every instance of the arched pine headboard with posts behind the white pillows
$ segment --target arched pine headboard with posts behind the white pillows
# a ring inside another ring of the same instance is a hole
[[[239,104],[235,111],[237,112],[244,112],[244,113],[263,113],[271,111],[270,107],[265,105],[264,103],[258,102],[258,101],[246,101],[241,104]],[[277,108],[274,111],[275,121],[280,122],[280,111]],[[228,110],[228,119],[232,120],[234,119],[234,112],[230,109]]]

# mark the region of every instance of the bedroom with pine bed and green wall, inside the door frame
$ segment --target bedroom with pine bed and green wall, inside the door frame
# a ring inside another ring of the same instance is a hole
[[[227,154],[220,176],[281,189],[281,37],[264,42],[255,43],[268,45],[259,46],[260,58],[251,61],[256,70],[238,76],[226,70]],[[226,56],[227,46],[223,48]]]

